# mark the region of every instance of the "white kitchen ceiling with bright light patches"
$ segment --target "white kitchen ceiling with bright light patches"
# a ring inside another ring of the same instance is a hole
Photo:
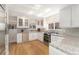
[[[8,10],[13,16],[48,17],[65,6],[68,4],[8,4]]]

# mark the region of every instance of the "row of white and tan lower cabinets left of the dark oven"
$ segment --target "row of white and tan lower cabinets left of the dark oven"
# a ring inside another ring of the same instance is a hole
[[[43,42],[44,32],[43,31],[24,31],[17,34],[17,43],[40,40]]]

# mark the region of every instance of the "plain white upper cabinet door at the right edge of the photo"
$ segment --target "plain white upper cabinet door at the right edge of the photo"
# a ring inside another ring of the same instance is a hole
[[[72,27],[79,27],[79,5],[72,6]]]

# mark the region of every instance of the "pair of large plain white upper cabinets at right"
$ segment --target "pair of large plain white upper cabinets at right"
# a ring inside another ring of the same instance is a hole
[[[60,27],[79,27],[79,5],[71,5],[60,11]]]

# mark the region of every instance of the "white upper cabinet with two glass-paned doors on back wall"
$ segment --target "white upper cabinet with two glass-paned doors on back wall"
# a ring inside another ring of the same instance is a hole
[[[17,28],[28,28],[28,19],[18,17],[17,18]]]

